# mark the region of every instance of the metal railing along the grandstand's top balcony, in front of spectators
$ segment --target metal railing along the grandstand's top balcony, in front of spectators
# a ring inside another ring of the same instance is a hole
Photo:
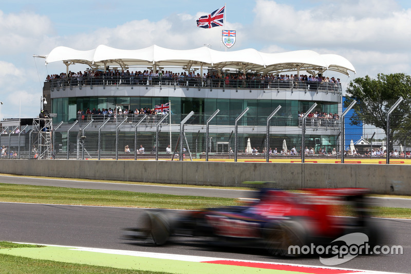
[[[140,77],[140,76],[101,76],[72,77],[50,80],[51,89],[74,86],[180,86],[209,89],[274,89],[302,90],[305,92],[341,93],[341,84],[315,81],[282,81],[273,79],[219,79],[219,78],[173,78],[173,77]]]

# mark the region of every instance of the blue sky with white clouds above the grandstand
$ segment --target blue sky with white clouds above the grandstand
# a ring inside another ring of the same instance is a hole
[[[171,49],[209,45],[225,50],[222,27],[203,29],[196,20],[226,4],[226,29],[236,30],[229,50],[314,50],[348,59],[350,77],[403,72],[411,75],[411,1],[7,1],[0,6],[0,101],[2,118],[34,118],[40,112],[48,74],[65,72],[62,62],[45,66],[33,54],[57,46],[78,50],[107,45]],[[71,67],[70,70],[85,67]]]

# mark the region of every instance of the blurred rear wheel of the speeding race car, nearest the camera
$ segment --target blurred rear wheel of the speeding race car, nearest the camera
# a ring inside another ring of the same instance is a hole
[[[271,255],[300,257],[301,252],[293,252],[305,244],[305,231],[300,223],[280,221],[270,224],[266,231],[266,248]]]

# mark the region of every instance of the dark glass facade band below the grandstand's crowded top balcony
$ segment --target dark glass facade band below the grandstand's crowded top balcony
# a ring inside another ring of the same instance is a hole
[[[250,110],[244,117],[243,124],[265,122],[273,110],[281,105],[277,117],[289,118],[289,126],[297,125],[298,112],[306,112],[313,104],[312,101],[297,100],[258,100],[258,99],[215,99],[215,98],[188,98],[188,97],[77,97],[77,98],[55,98],[52,99],[52,113],[57,113],[54,123],[61,121],[71,123],[75,121],[77,111],[87,108],[103,109],[121,106],[134,111],[136,108],[154,108],[155,105],[171,101],[171,111],[175,121],[179,123],[181,115],[189,114],[191,111],[198,116],[198,123],[206,123],[208,116],[216,109],[220,109],[217,119],[219,124],[234,124],[235,118],[244,111],[246,107]],[[314,111],[326,113],[338,113],[337,103],[316,102]]]

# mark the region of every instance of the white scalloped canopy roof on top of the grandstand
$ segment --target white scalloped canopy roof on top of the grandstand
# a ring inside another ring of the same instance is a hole
[[[176,50],[156,45],[126,50],[100,45],[91,50],[76,50],[61,46],[54,48],[47,55],[35,57],[45,58],[46,65],[51,62],[63,61],[67,66],[87,64],[92,68],[117,66],[126,69],[130,66],[181,66],[184,69],[190,69],[202,65],[214,69],[238,69],[264,74],[297,70],[317,72],[333,70],[349,76],[349,70],[356,72],[353,65],[344,57],[337,54],[319,54],[312,50],[264,53],[251,48],[217,51],[204,46],[189,50]]]

